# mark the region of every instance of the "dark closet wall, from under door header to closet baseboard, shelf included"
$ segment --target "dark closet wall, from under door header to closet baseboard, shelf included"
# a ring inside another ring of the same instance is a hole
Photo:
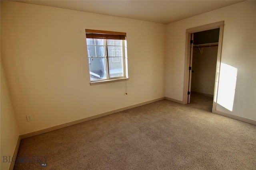
[[[220,29],[194,33],[191,92],[213,96]]]

